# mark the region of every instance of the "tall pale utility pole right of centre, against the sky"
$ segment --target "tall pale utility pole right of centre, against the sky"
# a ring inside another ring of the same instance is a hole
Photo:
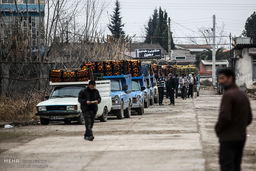
[[[216,16],[213,15],[212,85],[216,86]]]

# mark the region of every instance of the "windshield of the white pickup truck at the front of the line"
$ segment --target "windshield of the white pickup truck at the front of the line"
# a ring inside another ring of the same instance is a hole
[[[52,92],[51,98],[56,97],[78,97],[79,92],[84,89],[84,87],[79,86],[67,86],[67,87],[57,87]]]

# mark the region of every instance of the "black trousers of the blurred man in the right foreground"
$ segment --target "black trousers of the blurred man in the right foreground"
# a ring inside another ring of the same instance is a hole
[[[219,163],[221,171],[241,171],[245,141],[220,142]]]

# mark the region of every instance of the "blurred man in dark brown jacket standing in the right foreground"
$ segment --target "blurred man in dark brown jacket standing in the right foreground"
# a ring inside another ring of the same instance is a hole
[[[235,74],[230,69],[219,73],[219,83],[224,87],[219,119],[215,126],[219,138],[219,163],[221,171],[240,171],[246,128],[252,122],[248,97],[235,84]]]

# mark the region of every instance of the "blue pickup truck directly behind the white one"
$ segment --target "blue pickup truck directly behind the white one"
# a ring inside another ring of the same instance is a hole
[[[130,118],[132,108],[131,75],[104,76],[111,81],[112,108],[110,114],[118,119]]]

